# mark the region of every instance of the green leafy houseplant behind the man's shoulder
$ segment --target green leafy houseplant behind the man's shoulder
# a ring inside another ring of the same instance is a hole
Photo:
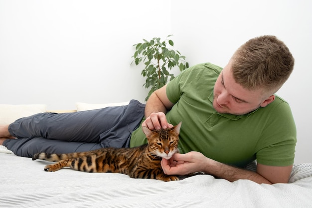
[[[146,82],[143,84],[146,88],[150,88],[146,101],[151,94],[160,87],[164,86],[168,81],[174,78],[174,75],[169,72],[173,67],[178,67],[180,71],[188,68],[188,62],[185,56],[177,50],[173,50],[173,41],[169,39],[172,35],[168,35],[165,40],[160,41],[159,37],[154,37],[148,41],[134,44],[136,51],[132,56],[136,65],[144,62],[142,75],[146,77]],[[171,48],[167,47],[171,46]],[[169,80],[168,80],[169,79]]]

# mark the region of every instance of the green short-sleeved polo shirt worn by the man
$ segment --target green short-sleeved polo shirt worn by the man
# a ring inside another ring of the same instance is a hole
[[[245,115],[222,114],[212,105],[214,83],[222,68],[198,64],[181,72],[166,88],[174,103],[167,112],[173,125],[182,121],[180,153],[198,151],[221,163],[244,167],[251,161],[270,166],[294,163],[296,125],[282,98]],[[130,146],[147,143],[142,127],[133,132]]]

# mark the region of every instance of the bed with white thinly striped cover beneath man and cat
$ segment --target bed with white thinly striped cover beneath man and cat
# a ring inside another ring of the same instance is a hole
[[[7,114],[25,112],[7,108],[1,111],[1,107],[0,117],[6,115],[6,120]],[[77,107],[77,110],[85,109]],[[43,106],[37,111],[46,109]],[[33,113],[28,111],[30,115]],[[9,119],[15,119],[14,116]],[[230,183],[210,175],[163,182],[71,169],[44,172],[43,167],[49,163],[15,156],[0,146],[0,207],[312,208],[310,163],[295,164],[289,183],[275,185],[259,185],[249,180]],[[251,163],[247,169],[253,171],[255,167]]]

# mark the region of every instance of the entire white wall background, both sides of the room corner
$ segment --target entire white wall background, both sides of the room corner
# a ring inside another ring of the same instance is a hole
[[[282,39],[296,59],[278,92],[298,129],[296,163],[312,162],[310,0],[0,0],[0,103],[144,102],[133,44],[174,34],[190,65],[224,66],[262,34]],[[150,9],[150,10],[149,10]]]

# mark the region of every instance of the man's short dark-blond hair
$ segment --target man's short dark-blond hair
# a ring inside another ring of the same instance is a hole
[[[233,77],[238,84],[272,94],[289,78],[294,62],[285,43],[272,35],[248,40],[231,58]]]

